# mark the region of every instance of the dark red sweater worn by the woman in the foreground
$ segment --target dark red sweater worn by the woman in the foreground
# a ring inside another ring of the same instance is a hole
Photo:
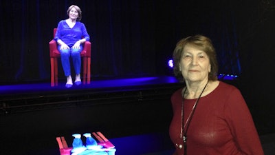
[[[183,155],[181,132],[181,90],[171,96],[173,119],[170,138],[175,144],[175,155]],[[197,99],[184,99],[184,122]],[[263,155],[259,135],[250,110],[233,85],[220,81],[210,94],[201,97],[187,132],[188,155]]]

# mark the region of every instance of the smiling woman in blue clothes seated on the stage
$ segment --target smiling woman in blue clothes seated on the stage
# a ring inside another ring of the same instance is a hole
[[[84,23],[80,22],[82,12],[78,6],[70,6],[67,10],[67,15],[69,16],[68,19],[59,21],[54,40],[58,43],[58,51],[61,53],[63,71],[67,77],[65,86],[72,87],[73,81],[71,76],[70,57],[72,57],[72,63],[76,73],[74,83],[80,85],[80,52],[83,50],[83,43],[89,41],[90,37]]]

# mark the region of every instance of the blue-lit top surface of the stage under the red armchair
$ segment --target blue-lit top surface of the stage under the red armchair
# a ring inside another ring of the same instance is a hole
[[[65,81],[60,81],[58,86],[51,87],[50,82],[47,83],[20,83],[11,85],[0,85],[0,97],[8,94],[30,94],[45,93],[52,91],[70,91],[70,90],[110,90],[121,88],[137,88],[144,85],[160,85],[166,83],[178,83],[174,76],[148,76],[126,79],[91,79],[90,84],[73,85],[73,87],[65,87]]]

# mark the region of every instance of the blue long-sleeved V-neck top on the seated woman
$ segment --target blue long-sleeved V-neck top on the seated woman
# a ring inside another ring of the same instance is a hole
[[[66,23],[66,20],[59,21],[56,35],[54,37],[55,41],[61,39],[64,43],[66,43],[70,48],[79,41],[80,39],[85,38],[86,41],[90,40],[89,34],[85,27],[84,23],[80,21],[76,21],[76,24],[73,28],[69,28],[69,25]]]

